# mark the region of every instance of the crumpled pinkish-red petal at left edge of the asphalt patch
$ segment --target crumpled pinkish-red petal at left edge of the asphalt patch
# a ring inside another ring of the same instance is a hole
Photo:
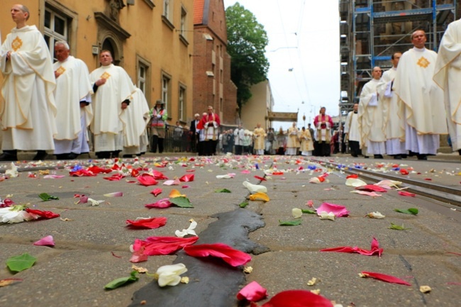
[[[182,247],[194,244],[196,240],[199,240],[199,237],[150,237],[145,240],[135,239],[133,250],[138,251],[144,247],[144,255],[170,255]]]

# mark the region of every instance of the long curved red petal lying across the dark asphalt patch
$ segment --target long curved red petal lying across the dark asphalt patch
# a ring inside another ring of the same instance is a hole
[[[223,243],[187,246],[184,247],[184,252],[192,257],[219,257],[233,267],[238,267],[251,260],[251,256],[246,252],[234,250],[229,245]]]

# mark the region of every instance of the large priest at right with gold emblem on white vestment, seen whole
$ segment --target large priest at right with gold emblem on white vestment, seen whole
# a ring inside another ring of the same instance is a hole
[[[424,47],[426,33],[411,35],[413,49],[401,56],[394,79],[399,116],[405,121],[405,149],[427,160],[440,147],[440,135],[448,133],[443,91],[433,81],[437,53]]]

